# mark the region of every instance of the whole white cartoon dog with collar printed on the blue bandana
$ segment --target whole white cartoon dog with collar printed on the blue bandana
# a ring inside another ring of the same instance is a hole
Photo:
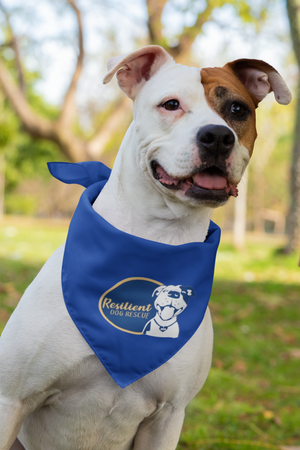
[[[156,297],[154,307],[156,315],[146,323],[143,334],[156,337],[179,336],[177,316],[185,310],[190,297],[195,297],[191,286],[159,286],[153,291]]]

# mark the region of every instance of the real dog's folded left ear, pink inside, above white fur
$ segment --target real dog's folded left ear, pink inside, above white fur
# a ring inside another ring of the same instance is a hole
[[[103,83],[108,83],[117,73],[120,88],[127,97],[134,99],[143,84],[165,63],[175,64],[162,47],[147,45],[133,53],[110,58],[107,61],[108,73]]]

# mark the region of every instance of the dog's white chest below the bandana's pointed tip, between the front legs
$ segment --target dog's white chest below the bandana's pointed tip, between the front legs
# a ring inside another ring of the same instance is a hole
[[[119,388],[95,356],[53,388],[57,394],[22,427],[20,437],[28,448],[38,448],[42,439],[49,449],[127,450],[141,417],[156,409],[154,399],[139,390]]]

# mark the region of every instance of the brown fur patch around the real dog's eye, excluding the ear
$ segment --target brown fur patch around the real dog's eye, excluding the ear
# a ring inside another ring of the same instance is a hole
[[[239,142],[251,156],[257,136],[253,97],[229,66],[202,69],[201,83],[209,106],[236,132]],[[230,114],[228,105],[233,102],[247,106],[249,114],[245,120],[237,120]]]

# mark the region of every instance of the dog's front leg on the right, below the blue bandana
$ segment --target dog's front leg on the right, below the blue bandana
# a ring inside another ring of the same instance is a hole
[[[171,403],[141,423],[133,450],[175,450],[184,420],[184,410]]]

